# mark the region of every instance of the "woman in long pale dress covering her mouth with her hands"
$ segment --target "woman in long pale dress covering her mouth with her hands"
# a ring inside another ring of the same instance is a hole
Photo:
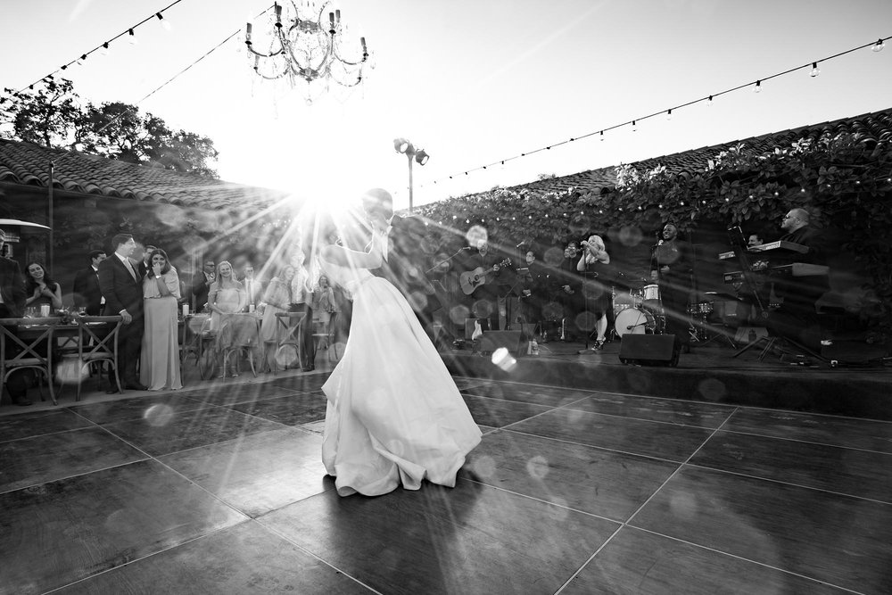
[[[139,381],[150,391],[183,388],[179,372],[177,300],[179,276],[167,253],[155,248],[143,277],[145,333]]]

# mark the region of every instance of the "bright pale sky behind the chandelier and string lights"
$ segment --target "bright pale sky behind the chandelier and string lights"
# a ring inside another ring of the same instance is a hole
[[[27,87],[173,1],[0,0],[0,86]],[[252,70],[241,31],[252,20],[259,35],[270,6],[181,0],[163,13],[169,31],[148,21],[138,44],[112,42],[66,75],[85,101],[210,136],[222,179],[322,201],[380,186],[397,209],[409,175],[395,137],[431,155],[414,168],[418,206],[892,107],[892,47],[867,48],[815,78],[797,70],[583,137],[889,37],[888,0],[341,0],[375,68],[312,104]]]

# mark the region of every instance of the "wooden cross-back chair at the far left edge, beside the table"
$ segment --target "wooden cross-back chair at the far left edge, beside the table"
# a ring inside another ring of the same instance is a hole
[[[45,378],[49,386],[50,398],[56,401],[53,392],[53,332],[62,322],[62,318],[0,318],[0,378],[3,385],[13,372],[21,369],[34,369]],[[33,333],[29,332],[33,330]],[[20,335],[29,335],[22,341]],[[21,351],[15,352],[13,346]],[[46,351],[42,355],[41,347]],[[40,386],[40,384],[37,384]],[[40,388],[40,400],[44,401],[43,388]]]

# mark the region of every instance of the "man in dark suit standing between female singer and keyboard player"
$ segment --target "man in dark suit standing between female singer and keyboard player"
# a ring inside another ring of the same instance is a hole
[[[693,252],[690,244],[681,239],[678,227],[669,222],[663,226],[660,240],[654,246],[650,278],[660,287],[660,299],[666,319],[666,332],[675,335],[675,345],[684,353],[690,352],[690,319],[688,300],[691,288]]]

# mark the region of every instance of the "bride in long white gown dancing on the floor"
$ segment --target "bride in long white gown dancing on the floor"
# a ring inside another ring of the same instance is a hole
[[[409,302],[369,272],[384,260],[388,231],[380,211],[369,218],[368,252],[320,252],[329,279],[353,295],[343,359],[322,387],[322,460],[341,496],[417,490],[423,479],[453,487],[480,429]]]

